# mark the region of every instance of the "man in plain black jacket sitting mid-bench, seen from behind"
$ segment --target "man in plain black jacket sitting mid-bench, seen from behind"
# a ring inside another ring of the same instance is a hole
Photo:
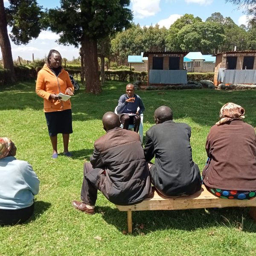
[[[145,160],[151,182],[165,196],[192,195],[201,189],[201,175],[192,160],[191,127],[172,120],[172,110],[161,106],[154,112],[156,125],[146,132]]]

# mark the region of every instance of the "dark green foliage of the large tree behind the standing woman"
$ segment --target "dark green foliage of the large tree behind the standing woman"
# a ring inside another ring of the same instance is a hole
[[[127,28],[132,20],[130,0],[61,0],[61,7],[49,9],[53,32],[61,33],[59,43],[76,47],[82,37],[103,39]]]

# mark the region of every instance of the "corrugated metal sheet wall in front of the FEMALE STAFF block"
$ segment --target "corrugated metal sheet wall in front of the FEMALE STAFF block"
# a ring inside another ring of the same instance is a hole
[[[222,72],[222,70],[224,70]],[[224,84],[256,84],[256,70],[219,69],[218,81]]]

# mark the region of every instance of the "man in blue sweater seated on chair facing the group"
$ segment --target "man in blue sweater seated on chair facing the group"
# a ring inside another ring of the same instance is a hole
[[[137,108],[140,108],[137,111]],[[117,106],[117,113],[123,129],[128,130],[129,124],[134,125],[134,131],[138,132],[140,128],[140,114],[145,107],[139,95],[134,94],[134,85],[126,85],[126,94],[123,94]]]

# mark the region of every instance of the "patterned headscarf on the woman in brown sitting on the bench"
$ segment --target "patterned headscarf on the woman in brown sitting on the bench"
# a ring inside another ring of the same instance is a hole
[[[242,120],[244,119],[245,110],[239,105],[235,103],[228,102],[225,104],[220,111],[220,120],[216,122],[216,125],[220,125],[222,123],[232,121],[234,119]]]

